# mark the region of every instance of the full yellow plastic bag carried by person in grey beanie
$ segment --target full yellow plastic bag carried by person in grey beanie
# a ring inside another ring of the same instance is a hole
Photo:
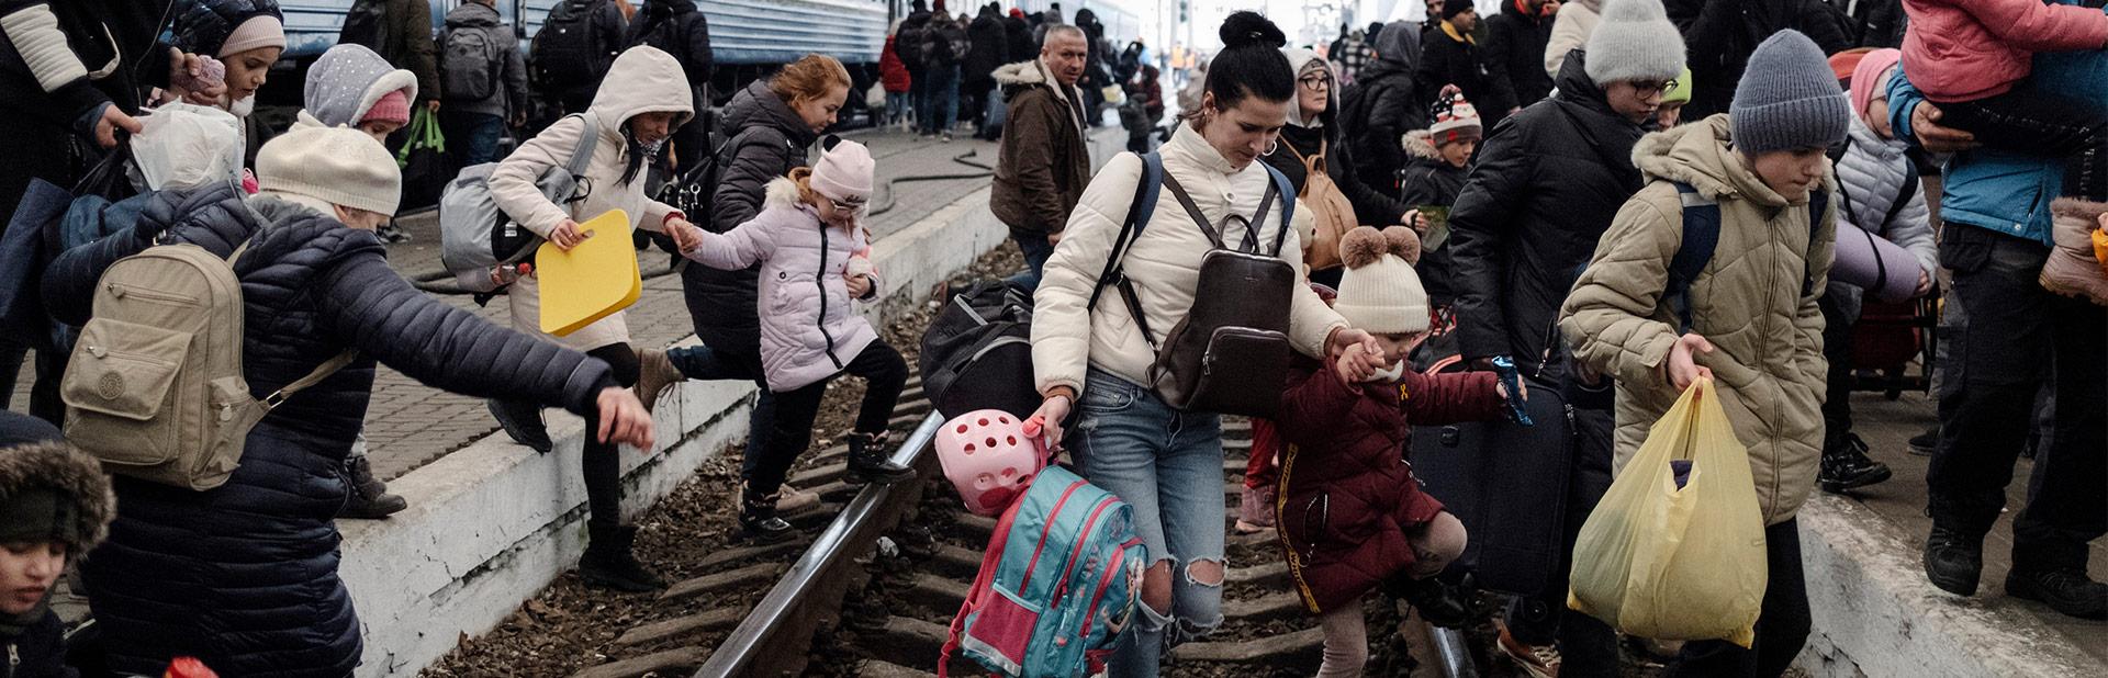
[[[1689,459],[1678,488],[1672,461]],[[1661,640],[1750,646],[1764,600],[1764,514],[1750,451],[1699,379],[1581,524],[1566,606]]]

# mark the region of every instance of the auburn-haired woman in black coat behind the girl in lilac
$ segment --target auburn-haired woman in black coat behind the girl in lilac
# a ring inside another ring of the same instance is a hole
[[[731,97],[725,105],[725,143],[717,149],[719,175],[713,194],[713,215],[708,230],[731,232],[740,223],[753,221],[767,206],[767,185],[778,177],[807,164],[805,149],[820,139],[820,133],[835,124],[843,101],[850,97],[850,69],[835,57],[805,55],[784,65],[769,80],[757,80]],[[649,406],[666,385],[683,379],[748,379],[761,394],[746,425],[746,455],[740,461],[740,480],[753,488],[761,476],[763,459],[778,455],[778,394],[769,390],[761,362],[761,265],[746,270],[715,270],[689,265],[681,272],[681,297],[696,324],[702,345],[656,350],[639,354],[641,377],[637,396]],[[809,436],[809,430],[793,432]],[[803,453],[799,444],[788,457]],[[769,497],[778,512],[818,505],[820,497],[807,491],[778,484],[778,491],[759,493]],[[744,495],[744,493],[742,493]],[[776,520],[755,520],[750,535],[788,535],[790,524]]]

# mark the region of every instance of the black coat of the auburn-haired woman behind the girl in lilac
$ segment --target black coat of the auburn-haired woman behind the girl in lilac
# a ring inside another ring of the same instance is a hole
[[[723,234],[761,213],[769,179],[805,166],[805,149],[818,137],[769,91],[767,80],[755,80],[731,95],[719,116],[725,145],[717,149],[713,215],[700,225]],[[681,267],[681,291],[696,337],[713,350],[750,356],[755,364],[761,364],[761,318],[755,312],[759,276],[759,263],[738,272]]]

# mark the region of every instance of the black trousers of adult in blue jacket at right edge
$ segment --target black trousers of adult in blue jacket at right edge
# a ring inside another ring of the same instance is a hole
[[[2085,569],[2108,533],[2108,310],[2036,282],[2049,246],[1948,223],[1939,265],[1954,272],[1941,320],[1939,444],[1925,484],[1933,522],[1990,533],[2049,375],[2055,408],[2034,453],[2028,507],[2013,518],[2013,571]]]

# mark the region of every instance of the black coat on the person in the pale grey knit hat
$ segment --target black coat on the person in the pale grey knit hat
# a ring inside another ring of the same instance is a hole
[[[1450,208],[1457,328],[1465,358],[1514,356],[1537,368],[1554,322],[1611,217],[1640,190],[1640,126],[1611,109],[1583,72],[1560,65],[1560,93],[1492,128]],[[1562,377],[1564,360],[1545,368]]]

